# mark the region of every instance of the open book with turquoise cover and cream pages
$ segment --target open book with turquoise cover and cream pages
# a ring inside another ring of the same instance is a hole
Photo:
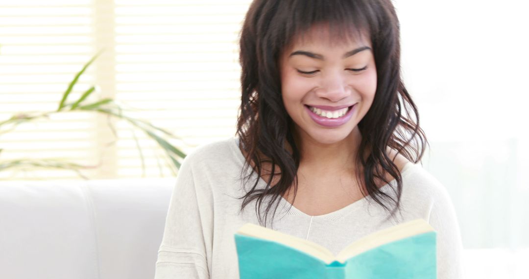
[[[235,234],[241,279],[435,279],[436,232],[423,219],[354,241],[338,255],[302,238],[254,224]]]

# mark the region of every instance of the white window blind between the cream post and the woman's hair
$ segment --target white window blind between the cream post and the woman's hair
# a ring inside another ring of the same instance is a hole
[[[196,146],[235,133],[240,99],[238,34],[249,1],[116,0],[116,94]],[[126,131],[118,174],[138,173]],[[145,141],[145,146],[153,145]],[[147,155],[147,154],[145,154]],[[154,155],[147,162],[154,166]],[[157,175],[157,168],[150,168]]]

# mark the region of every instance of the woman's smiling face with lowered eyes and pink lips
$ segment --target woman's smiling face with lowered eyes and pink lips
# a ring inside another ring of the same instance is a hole
[[[377,70],[369,36],[334,42],[315,26],[281,55],[281,94],[302,141],[342,141],[373,103]],[[332,43],[331,43],[332,42]]]

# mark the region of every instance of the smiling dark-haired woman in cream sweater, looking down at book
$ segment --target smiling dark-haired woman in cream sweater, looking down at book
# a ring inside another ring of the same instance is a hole
[[[238,136],[186,157],[157,279],[239,278],[234,233],[247,222],[338,254],[417,218],[437,231],[438,278],[462,278],[451,200],[415,164],[427,141],[390,0],[255,0],[240,63]]]

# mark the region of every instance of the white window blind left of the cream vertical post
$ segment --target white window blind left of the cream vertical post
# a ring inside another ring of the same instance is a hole
[[[61,92],[94,53],[94,7],[90,1],[0,2],[0,122],[13,114],[57,109]],[[94,83],[93,69],[72,97]],[[62,159],[97,160],[96,117],[53,114],[0,134],[0,162]],[[33,169],[33,168],[32,168]],[[62,178],[72,172],[2,171],[2,179]]]

